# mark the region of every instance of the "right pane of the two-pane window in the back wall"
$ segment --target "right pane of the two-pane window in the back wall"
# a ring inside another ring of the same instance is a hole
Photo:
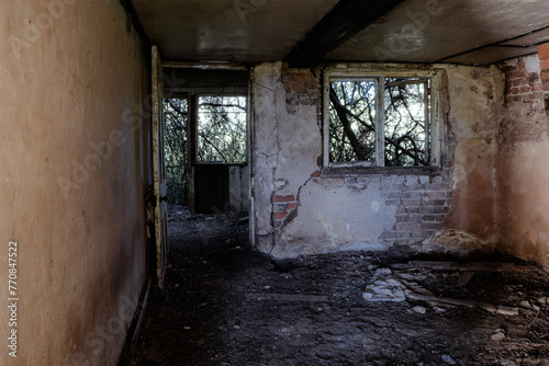
[[[427,165],[428,82],[385,79],[385,167]]]

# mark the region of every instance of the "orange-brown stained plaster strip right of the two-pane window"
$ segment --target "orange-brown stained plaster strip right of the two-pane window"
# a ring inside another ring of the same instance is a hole
[[[504,76],[495,67],[448,70],[449,148],[453,204],[435,242],[450,248],[495,247],[495,157]]]

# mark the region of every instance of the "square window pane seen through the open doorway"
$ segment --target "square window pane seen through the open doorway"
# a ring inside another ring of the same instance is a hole
[[[199,161],[246,162],[246,96],[200,96]]]

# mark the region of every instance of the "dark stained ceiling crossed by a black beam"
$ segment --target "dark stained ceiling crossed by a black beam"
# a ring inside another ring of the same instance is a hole
[[[547,0],[133,0],[165,60],[489,65],[549,42]]]

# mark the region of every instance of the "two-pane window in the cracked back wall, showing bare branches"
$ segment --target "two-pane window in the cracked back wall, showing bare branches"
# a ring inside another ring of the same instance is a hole
[[[329,165],[432,163],[429,78],[338,76],[326,89]]]

